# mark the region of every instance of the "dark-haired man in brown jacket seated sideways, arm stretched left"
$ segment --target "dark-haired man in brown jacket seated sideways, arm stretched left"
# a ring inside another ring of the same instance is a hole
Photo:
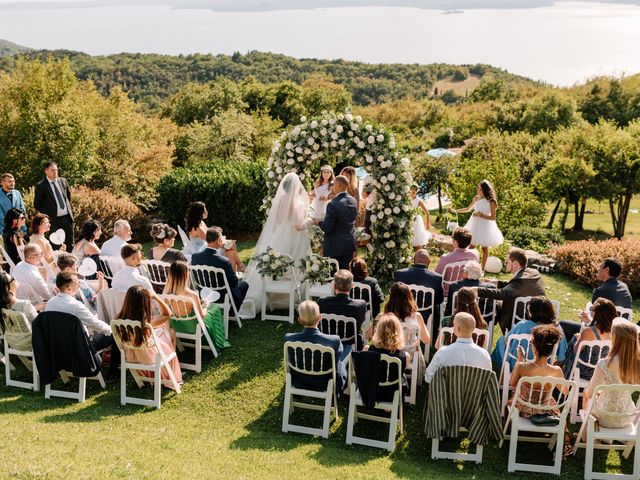
[[[502,306],[498,309],[498,318],[503,334],[511,325],[516,298],[545,295],[542,277],[536,269],[527,268],[527,256],[524,250],[512,248],[507,254],[505,263],[507,273],[513,274],[511,280],[499,281],[498,288],[478,288],[478,297],[502,300]]]

